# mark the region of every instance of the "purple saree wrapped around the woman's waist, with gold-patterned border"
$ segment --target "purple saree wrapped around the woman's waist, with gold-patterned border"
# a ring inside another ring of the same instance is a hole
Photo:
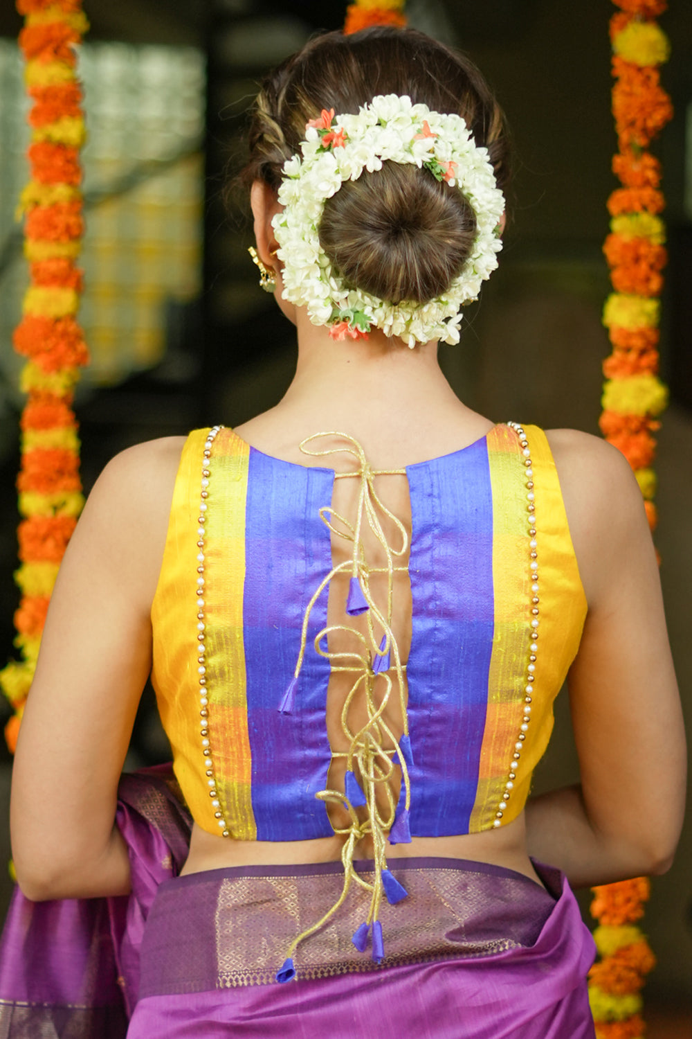
[[[364,879],[368,865],[357,863]],[[164,882],[142,942],[128,1039],[593,1039],[586,973],[593,941],[558,871],[545,887],[510,870],[412,858],[408,890],[381,921],[378,964],[351,942],[368,896],[275,974],[290,940],[333,904],[340,863],[252,867]]]

